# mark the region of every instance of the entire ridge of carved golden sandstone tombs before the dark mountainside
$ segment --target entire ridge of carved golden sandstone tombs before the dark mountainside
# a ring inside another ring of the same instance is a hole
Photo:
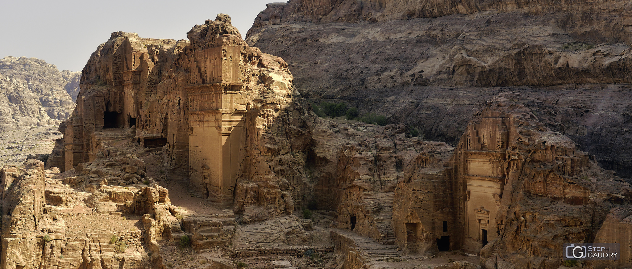
[[[137,137],[161,148],[168,177],[232,207],[240,223],[313,203],[336,211],[331,227],[405,253],[481,253],[483,268],[558,266],[563,242],[617,241],[612,231],[628,227],[629,184],[552,129],[550,104],[504,92],[456,147],[411,138],[405,125],[368,135],[310,113],[288,64],[248,46],[228,16],[188,37],[115,32],[100,45],[55,163],[83,169],[114,157],[99,137]],[[118,174],[107,180],[138,178]]]

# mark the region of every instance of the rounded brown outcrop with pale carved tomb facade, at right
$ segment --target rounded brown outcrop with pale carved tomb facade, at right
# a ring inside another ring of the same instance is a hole
[[[607,212],[632,199],[628,183],[540,122],[548,108],[501,95],[478,113],[456,148],[463,245],[483,247],[484,268],[559,266],[564,242],[595,241]]]

